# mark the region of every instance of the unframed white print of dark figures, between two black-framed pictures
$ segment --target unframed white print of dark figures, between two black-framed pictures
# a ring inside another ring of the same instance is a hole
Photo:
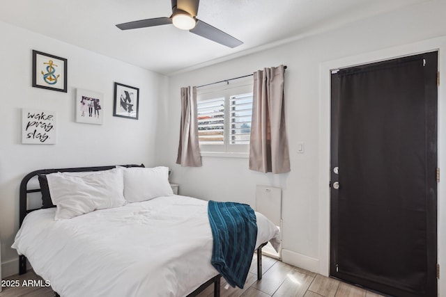
[[[76,89],[76,122],[102,125],[104,95],[91,90]]]

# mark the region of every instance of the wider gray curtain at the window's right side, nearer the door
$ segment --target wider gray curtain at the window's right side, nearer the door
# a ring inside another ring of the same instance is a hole
[[[254,72],[249,169],[260,172],[289,172],[286,138],[284,65]]]

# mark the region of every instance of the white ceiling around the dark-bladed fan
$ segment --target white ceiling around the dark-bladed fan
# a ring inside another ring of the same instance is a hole
[[[245,42],[234,49],[173,25],[115,26],[169,17],[170,0],[3,1],[0,21],[168,75],[423,1],[201,0],[197,18]]]

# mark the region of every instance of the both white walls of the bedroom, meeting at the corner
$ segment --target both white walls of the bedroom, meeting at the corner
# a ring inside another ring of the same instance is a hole
[[[0,23],[0,237],[3,275],[16,267],[17,255],[9,247],[18,227],[18,188],[31,170],[48,167],[93,166],[144,162],[165,164],[174,172],[180,193],[203,199],[233,200],[255,204],[256,184],[283,188],[284,261],[326,274],[323,255],[326,241],[328,184],[325,169],[327,97],[323,93],[327,65],[367,63],[417,51],[414,42],[440,37],[430,44],[440,48],[440,70],[445,70],[443,43],[446,38],[445,0],[432,0],[393,13],[365,19],[350,26],[295,40],[217,65],[178,74],[167,79],[111,58],[72,47],[7,24]],[[427,42],[426,44],[429,44]],[[404,49],[401,49],[403,46]],[[399,48],[397,51],[387,49]],[[424,47],[422,47],[424,48]],[[31,87],[31,50],[68,58],[68,93]],[[376,52],[380,54],[376,54]],[[355,57],[355,58],[349,58]],[[331,62],[335,61],[335,62]],[[286,123],[289,134],[291,172],[262,174],[247,169],[247,159],[204,157],[201,168],[175,164],[178,147],[180,87],[201,85],[250,74],[263,67],[284,64],[286,70]],[[442,77],[445,77],[443,74]],[[112,116],[113,82],[140,88],[140,120]],[[445,85],[439,88],[439,164],[446,168]],[[104,93],[104,125],[74,122],[75,88]],[[107,101],[108,100],[108,101]],[[56,145],[20,144],[20,109],[57,111]],[[297,143],[305,143],[298,154]],[[443,170],[444,171],[444,170]],[[328,172],[327,172],[328,174]],[[446,206],[438,192],[439,262],[446,267]],[[322,245],[322,247],[321,247]],[[446,296],[446,282],[440,283]]]

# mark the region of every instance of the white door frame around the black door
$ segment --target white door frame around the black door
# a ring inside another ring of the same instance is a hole
[[[331,70],[353,67],[378,61],[386,61],[392,58],[422,54],[427,51],[438,51],[438,71],[440,72],[440,86],[438,87],[438,167],[446,172],[446,36],[424,40],[409,45],[392,47],[380,51],[372,51],[367,54],[340,58],[327,61],[319,67],[319,165],[318,165],[318,255],[321,275],[330,275],[330,102],[331,102]],[[442,99],[443,98],[443,99]],[[443,174],[443,176],[446,176]],[[443,177],[445,179],[446,177]],[[437,238],[438,238],[438,264],[446,267],[446,239],[440,234],[446,232],[446,203],[442,203],[441,197],[446,197],[446,181],[438,184],[437,207]],[[444,268],[443,268],[444,271]],[[441,277],[441,275],[440,275]],[[443,276],[445,278],[445,276]],[[441,280],[441,279],[440,279]],[[438,282],[438,292],[446,291],[446,282]]]

